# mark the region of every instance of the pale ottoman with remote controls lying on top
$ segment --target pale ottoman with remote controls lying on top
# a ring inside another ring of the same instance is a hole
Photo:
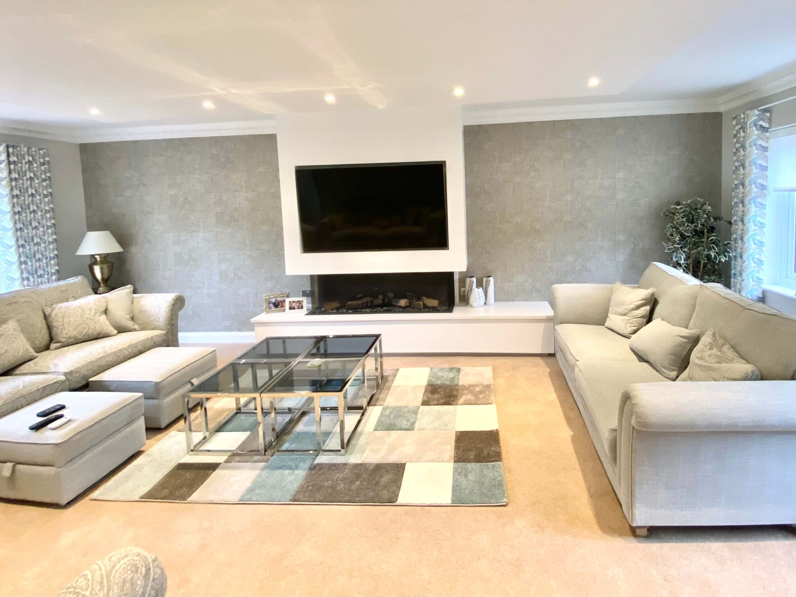
[[[70,417],[30,431],[53,404]],[[65,504],[146,443],[144,399],[131,392],[58,392],[0,419],[0,497]]]

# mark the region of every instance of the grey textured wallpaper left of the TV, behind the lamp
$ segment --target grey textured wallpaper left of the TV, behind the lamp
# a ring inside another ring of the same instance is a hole
[[[110,230],[112,287],[180,292],[181,331],[249,331],[285,275],[276,135],[80,146],[89,230]]]

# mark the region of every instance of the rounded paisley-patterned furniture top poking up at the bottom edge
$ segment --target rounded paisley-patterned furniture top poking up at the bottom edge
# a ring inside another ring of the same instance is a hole
[[[61,597],[163,597],[166,571],[160,560],[139,548],[117,549],[60,591]]]

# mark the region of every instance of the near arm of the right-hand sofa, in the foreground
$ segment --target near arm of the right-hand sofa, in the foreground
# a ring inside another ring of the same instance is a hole
[[[796,381],[633,384],[618,414],[630,525],[796,523]]]

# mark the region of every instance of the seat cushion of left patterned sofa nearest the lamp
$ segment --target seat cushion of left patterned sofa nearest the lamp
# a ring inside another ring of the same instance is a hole
[[[88,380],[111,367],[115,367],[147,350],[168,343],[166,332],[149,330],[124,332],[108,338],[81,342],[39,354],[12,369],[12,375],[32,373],[57,374],[66,377],[69,389],[80,388]]]

